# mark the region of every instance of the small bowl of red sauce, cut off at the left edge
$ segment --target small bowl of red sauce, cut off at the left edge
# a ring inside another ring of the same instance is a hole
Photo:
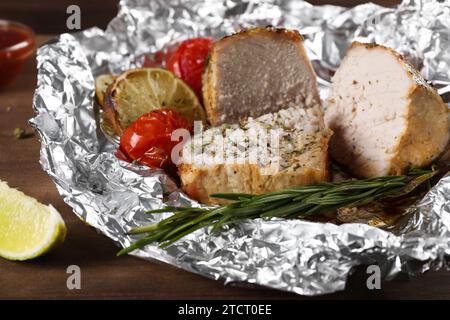
[[[0,87],[16,78],[35,49],[33,30],[21,23],[0,19]]]

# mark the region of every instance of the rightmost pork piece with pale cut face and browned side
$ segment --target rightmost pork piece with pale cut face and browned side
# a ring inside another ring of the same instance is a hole
[[[390,48],[354,42],[332,79],[332,157],[358,177],[429,165],[449,140],[447,105]]]

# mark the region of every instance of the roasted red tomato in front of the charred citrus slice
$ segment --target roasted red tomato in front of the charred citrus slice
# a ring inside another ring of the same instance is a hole
[[[175,110],[158,109],[144,114],[125,129],[116,155],[152,168],[173,167],[170,156],[179,141],[172,141],[171,135],[181,128],[192,132],[190,122]]]

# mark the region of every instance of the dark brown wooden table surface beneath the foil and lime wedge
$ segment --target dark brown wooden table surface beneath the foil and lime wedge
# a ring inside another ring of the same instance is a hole
[[[48,39],[40,36],[38,42]],[[116,257],[117,247],[112,241],[80,221],[42,171],[37,137],[14,138],[16,127],[32,133],[27,121],[34,115],[31,104],[35,85],[36,66],[32,59],[17,81],[0,91],[0,179],[43,203],[53,204],[66,221],[68,235],[65,243],[47,256],[28,262],[0,259],[0,298],[305,299],[261,287],[224,286],[222,281],[169,265],[130,256]],[[66,270],[73,264],[81,268],[81,290],[68,290],[66,286]],[[450,273],[397,279],[383,283],[381,290],[370,291],[366,289],[364,270],[360,270],[350,278],[346,291],[316,299],[323,298],[450,299]]]

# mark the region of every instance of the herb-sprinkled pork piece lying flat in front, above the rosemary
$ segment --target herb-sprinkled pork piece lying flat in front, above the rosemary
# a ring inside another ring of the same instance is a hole
[[[210,195],[260,194],[327,180],[329,135],[320,106],[210,128],[182,150],[183,188],[202,203],[221,203]],[[226,153],[219,156],[220,150]]]

